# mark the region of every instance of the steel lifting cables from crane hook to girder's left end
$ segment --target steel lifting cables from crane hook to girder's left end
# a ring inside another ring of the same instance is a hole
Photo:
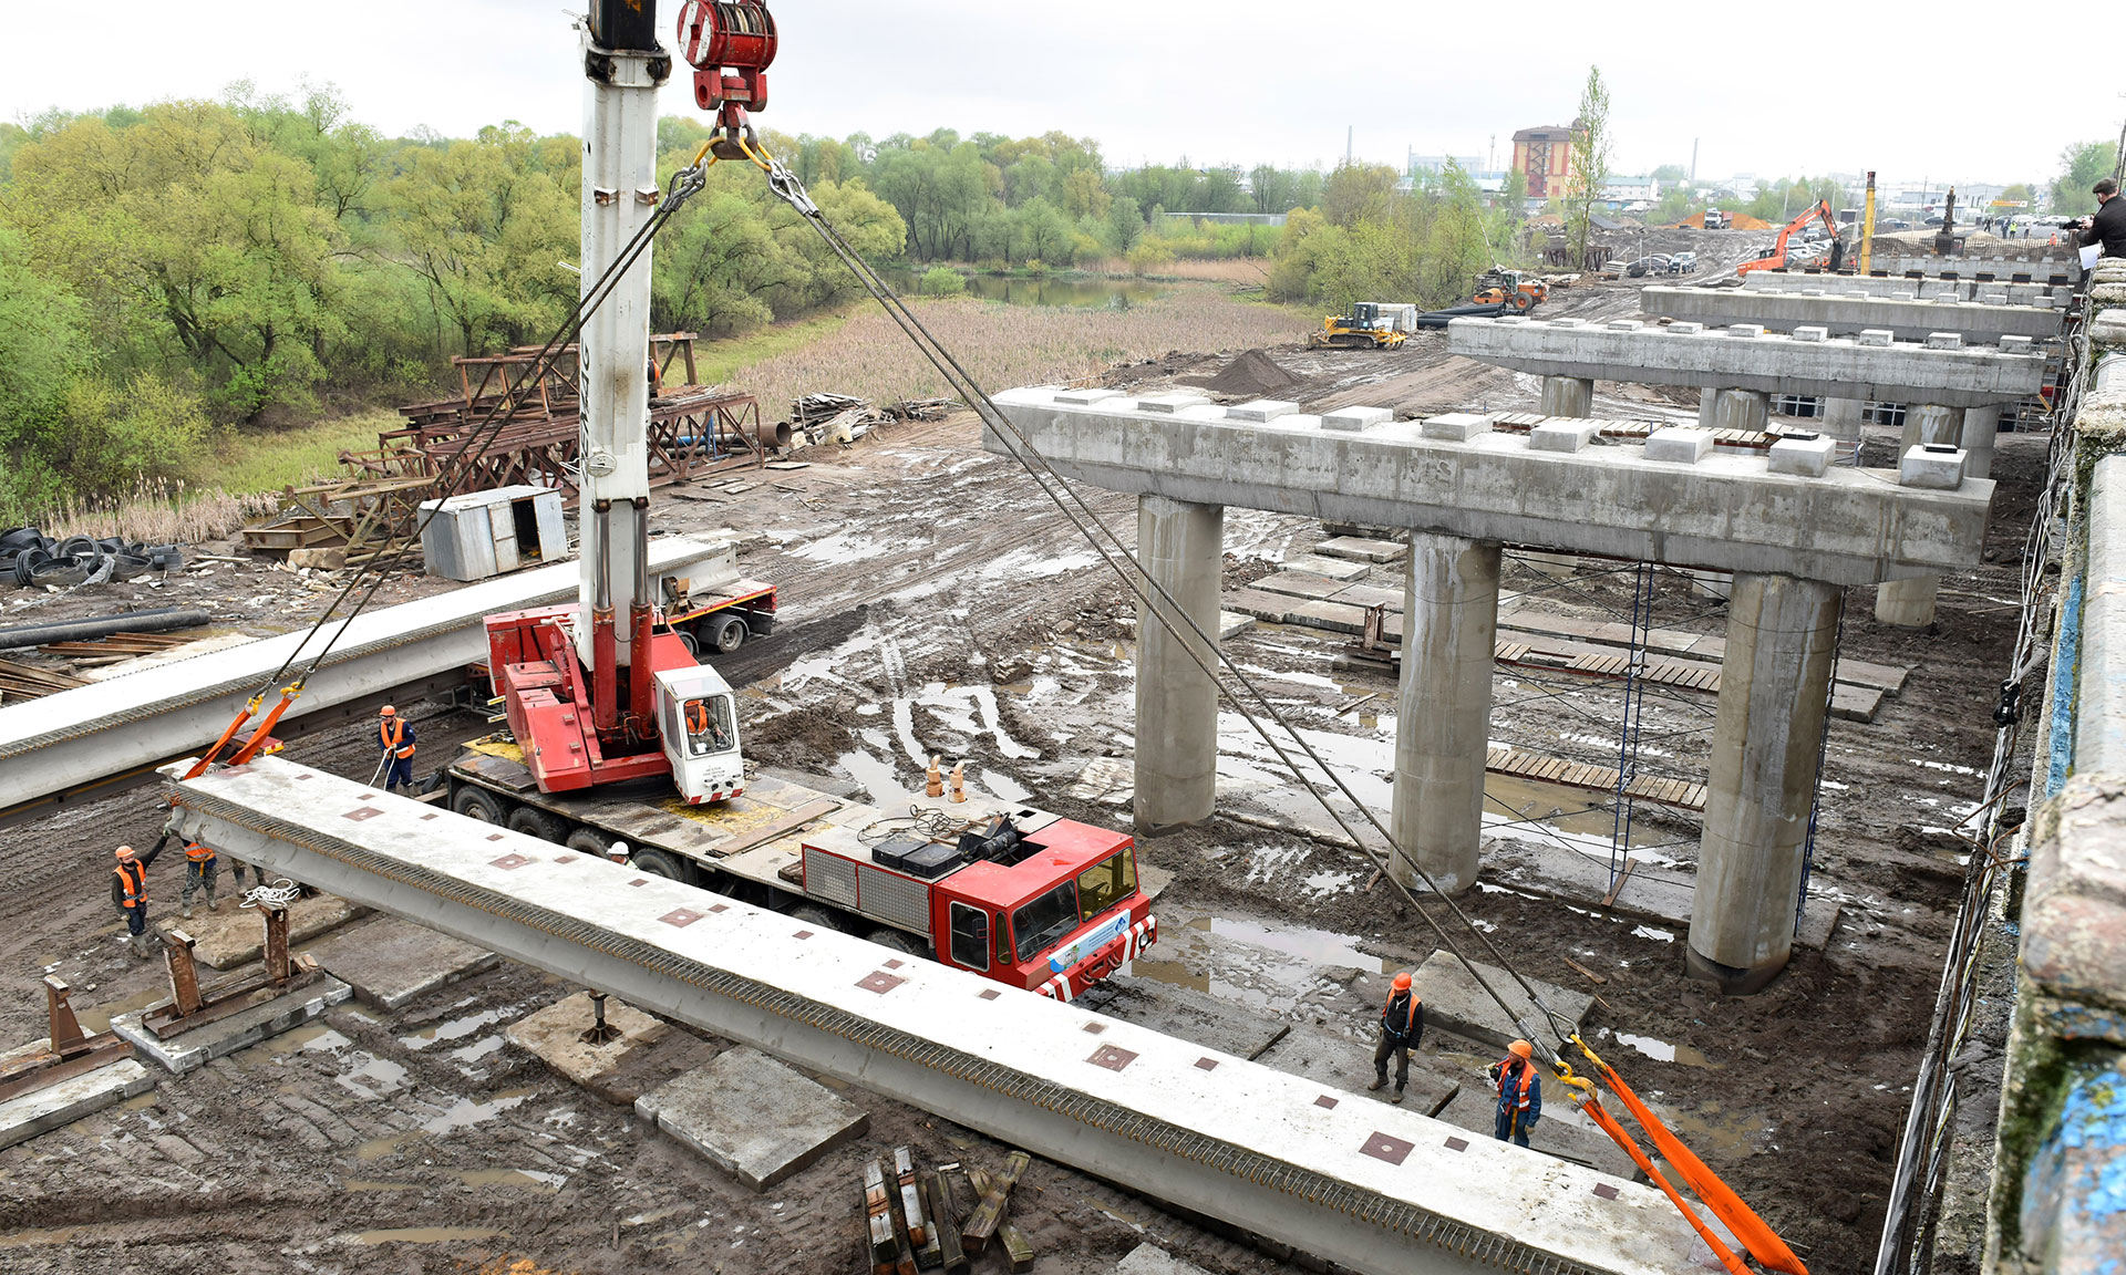
[[[389,563],[391,555],[415,544],[427,531],[427,525],[436,518],[436,514],[442,512],[442,502],[457,495],[457,489],[474,474],[474,465],[480,461],[480,457],[485,457],[487,448],[493,446],[493,440],[500,438],[502,427],[508,423],[510,414],[514,414],[514,410],[521,406],[523,397],[529,393],[529,387],[546,378],[546,372],[561,357],[561,353],[566,353],[568,344],[583,332],[583,325],[589,321],[589,317],[597,312],[597,308],[619,287],[621,276],[625,276],[634,268],[634,264],[642,257],[642,253],[648,251],[651,240],[657,238],[657,232],[663,230],[665,223],[670,223],[672,217],[680,210],[680,206],[685,206],[687,200],[693,198],[706,185],[708,168],[712,168],[714,164],[716,157],[710,155],[708,147],[704,144],[702,151],[695,153],[691,166],[672,174],[672,185],[665,191],[663,200],[659,200],[657,210],[648,217],[648,221],[644,221],[636,230],[636,234],[627,240],[627,244],[621,246],[621,253],[612,259],[612,264],[591,283],[589,291],[585,291],[576,300],[576,306],[570,310],[568,319],[561,321],[561,325],[553,332],[553,336],[546,338],[546,344],[540,346],[538,355],[534,355],[532,374],[519,380],[517,387],[512,387],[508,393],[504,393],[487,410],[487,414],[466,434],[463,444],[451,455],[451,459],[444,461],[442,472],[436,474],[434,482],[429,484],[429,491],[436,495],[429,502],[423,502],[429,506],[427,512],[423,512],[415,521],[412,529],[404,538],[398,536],[387,538],[385,546],[372,559],[372,565],[366,570],[357,570],[353,578],[349,578],[349,582],[340,589],[340,593],[332,599],[332,604],[325,606],[325,610],[317,616],[317,623],[310,625],[310,631],[304,633],[302,642],[298,642],[293,650],[289,650],[287,659],[281,661],[281,667],[266,678],[266,682],[244,706],[236,722],[200,761],[200,767],[210,765],[221,752],[221,748],[225,748],[230,740],[234,740],[236,731],[242,729],[242,725],[251,718],[251,714],[257,712],[257,706],[266,699],[272,686],[279,684],[281,678],[287,676],[289,667],[296,665],[296,661],[302,657],[302,650],[310,644],[310,640],[317,638],[327,623],[332,623],[340,606],[344,606],[347,599],[353,597],[355,589],[361,586],[364,576],[374,576],[370,580],[368,591],[361,593],[359,601],[355,601],[353,608],[347,612],[347,616],[340,620],[340,627],[325,640],[325,646],[317,652],[317,657],[310,659],[302,676],[298,676],[296,682],[289,684],[289,688],[283,693],[283,708],[287,706],[287,701],[291,701],[296,695],[302,693],[310,676],[325,663],[325,657],[332,654],[332,648],[340,642],[340,638],[347,635],[349,625],[355,623],[355,618],[364,612],[364,608],[368,608],[370,601],[376,597],[376,591],[383,589],[385,580],[389,580],[391,574],[398,570]],[[274,720],[276,718],[279,710],[274,712]],[[264,735],[264,731],[259,731],[259,735]]]

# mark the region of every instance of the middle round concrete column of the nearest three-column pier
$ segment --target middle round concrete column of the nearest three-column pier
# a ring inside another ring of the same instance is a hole
[[[1475,884],[1497,633],[1499,544],[1412,531],[1388,822],[1405,886],[1422,888],[1412,863],[1448,895]]]

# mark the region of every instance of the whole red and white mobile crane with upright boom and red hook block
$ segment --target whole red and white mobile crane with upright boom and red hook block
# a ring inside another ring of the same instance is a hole
[[[434,795],[648,876],[1076,997],[1157,939],[1127,833],[969,795],[959,776],[950,793],[933,776],[899,816],[746,774],[731,686],[695,663],[693,646],[704,633],[708,646],[736,646],[733,629],[772,616],[774,591],[742,580],[685,599],[644,565],[651,249],[636,240],[661,196],[657,85],[672,55],[651,0],[593,2],[583,49],[585,298],[627,264],[580,338],[578,601],[487,616],[508,731],[468,744],[432,780]],[[695,68],[695,102],[716,119],[708,151],[744,155],[746,113],[765,106],[776,55],[767,6],[689,0],[678,49]],[[727,608],[708,631],[695,623],[704,608]]]

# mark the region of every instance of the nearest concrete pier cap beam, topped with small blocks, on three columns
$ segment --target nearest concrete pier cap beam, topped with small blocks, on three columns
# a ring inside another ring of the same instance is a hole
[[[1741,344],[1741,342],[1737,342]],[[1414,421],[1363,431],[1312,416],[1229,421],[1222,408],[1142,412],[1129,397],[997,395],[1061,474],[1133,495],[1407,527],[1463,540],[1594,552],[1718,572],[1879,584],[1979,561],[1992,482],[1899,487],[1873,470],[1773,474],[1762,455],[1694,465],[1639,446],[1537,450],[1531,438],[1424,438]],[[1003,444],[984,431],[984,446]]]

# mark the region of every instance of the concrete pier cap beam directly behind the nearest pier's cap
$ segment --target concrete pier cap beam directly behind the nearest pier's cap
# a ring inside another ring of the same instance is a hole
[[[1467,359],[1533,372],[1641,385],[1756,389],[1950,408],[2018,402],[2045,382],[2045,359],[1992,348],[1922,348],[1869,340],[1801,340],[1760,327],[1650,327],[1618,319],[1454,319],[1448,348]]]

